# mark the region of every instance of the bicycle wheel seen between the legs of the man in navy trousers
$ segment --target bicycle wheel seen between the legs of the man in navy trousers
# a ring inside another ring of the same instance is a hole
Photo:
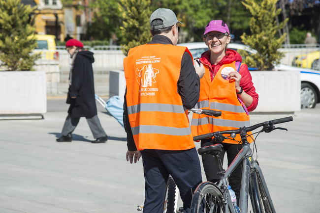
[[[177,201],[176,201],[176,183],[173,178],[169,176],[167,186],[165,189],[165,200],[163,206],[163,213],[176,213]]]

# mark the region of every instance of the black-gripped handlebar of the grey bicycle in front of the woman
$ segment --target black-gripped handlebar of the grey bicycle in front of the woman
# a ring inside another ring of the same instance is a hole
[[[280,124],[280,123],[285,123],[285,122],[289,122],[289,121],[293,121],[293,117],[285,117],[285,118],[279,118],[279,119],[274,119],[274,120],[270,120],[270,121],[265,121],[250,127],[246,127],[246,131],[250,132],[253,130],[256,130],[259,127],[263,127],[265,125],[267,126],[273,126],[274,124]],[[264,131],[263,131],[264,132]],[[225,130],[225,131],[218,131],[215,133],[207,133],[207,134],[201,134],[198,136],[194,136],[193,140],[197,141],[197,140],[202,140],[202,139],[206,139],[206,138],[211,138],[213,137],[215,134],[231,134],[231,133],[235,133],[235,134],[240,134],[240,129],[236,129],[236,130]]]

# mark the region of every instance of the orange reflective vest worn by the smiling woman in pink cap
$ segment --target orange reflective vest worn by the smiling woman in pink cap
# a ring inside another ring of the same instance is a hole
[[[235,61],[224,64],[211,81],[208,65],[204,64],[205,74],[200,80],[200,97],[195,108],[222,111],[220,117],[210,117],[193,113],[191,129],[192,135],[213,133],[224,130],[234,130],[250,126],[250,117],[240,103],[235,90],[235,81],[228,80],[228,73],[236,70]],[[251,132],[248,132],[251,134]],[[225,143],[238,143],[240,135],[235,140],[225,139]],[[251,143],[253,140],[247,137]]]

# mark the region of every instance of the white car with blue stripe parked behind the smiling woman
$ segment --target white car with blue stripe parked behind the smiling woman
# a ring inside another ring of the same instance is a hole
[[[184,46],[192,53],[193,58],[201,56],[201,53],[208,51],[208,47],[204,42],[181,43],[178,46]],[[249,53],[256,53],[257,51],[251,49],[249,46],[237,43],[229,43],[228,49],[237,51],[245,50]],[[249,70],[256,70],[256,68],[249,67]],[[301,108],[314,108],[317,103],[320,103],[320,71],[306,69],[301,67],[293,67],[285,64],[275,66],[275,70],[289,70],[300,72],[301,77]]]

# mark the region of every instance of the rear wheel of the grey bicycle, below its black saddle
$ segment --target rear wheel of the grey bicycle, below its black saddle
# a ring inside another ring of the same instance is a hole
[[[192,197],[191,213],[224,213],[222,191],[211,182],[200,184]]]

